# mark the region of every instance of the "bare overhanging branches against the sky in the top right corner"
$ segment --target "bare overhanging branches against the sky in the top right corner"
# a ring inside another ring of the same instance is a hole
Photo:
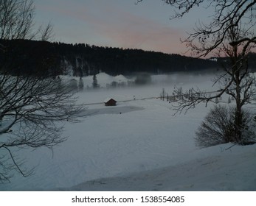
[[[146,0],[137,0],[137,3]],[[236,28],[239,24],[246,25],[247,33],[241,38],[230,40],[230,45],[238,45],[246,43],[247,46],[251,43],[256,43],[254,34],[255,26],[255,0],[162,0],[174,8],[175,13],[173,18],[183,18],[187,13],[190,13],[195,7],[202,9],[212,9],[213,13],[209,16],[210,23],[202,21],[195,22],[196,27],[194,32],[189,33],[182,43],[193,51],[198,57],[206,56],[212,51],[222,46],[226,41],[230,29]],[[209,19],[208,18],[208,19]]]

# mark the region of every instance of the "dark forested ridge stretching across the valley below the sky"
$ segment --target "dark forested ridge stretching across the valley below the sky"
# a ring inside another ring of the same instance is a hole
[[[218,61],[196,59],[179,54],[90,46],[85,43],[49,43],[35,40],[0,40],[1,69],[13,74],[69,74],[86,77],[100,71],[115,76],[148,72],[207,71],[218,68]]]

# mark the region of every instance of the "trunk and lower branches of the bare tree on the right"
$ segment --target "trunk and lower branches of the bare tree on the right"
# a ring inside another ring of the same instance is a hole
[[[235,99],[235,136],[237,142],[241,142],[241,131],[243,130],[242,123],[242,107],[245,104],[252,103],[255,98],[255,77],[249,72],[248,54],[250,46],[248,43],[241,42],[238,44],[230,44],[239,38],[242,38],[247,33],[246,29],[241,29],[241,25],[230,27],[227,31],[226,38],[219,48],[216,48],[218,53],[224,53],[228,57],[228,63],[223,65],[224,70],[218,77],[214,79],[214,85],[218,83],[219,90],[214,95],[209,96],[209,93],[204,93],[200,89],[190,90],[193,93],[192,99],[183,99],[178,102],[178,110],[189,109],[195,107],[196,104],[206,101],[213,101],[224,93],[232,96]],[[178,93],[178,90],[174,91]],[[186,92],[189,93],[188,91]],[[206,104],[207,104],[206,103]]]

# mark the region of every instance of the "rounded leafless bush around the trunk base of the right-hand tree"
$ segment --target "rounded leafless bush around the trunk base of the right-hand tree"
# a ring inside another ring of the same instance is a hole
[[[196,146],[208,147],[221,143],[238,143],[235,139],[235,107],[215,106],[196,131]],[[240,144],[255,143],[255,121],[243,110],[243,128]]]

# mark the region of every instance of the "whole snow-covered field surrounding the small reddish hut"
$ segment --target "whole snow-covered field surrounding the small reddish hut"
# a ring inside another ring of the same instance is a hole
[[[103,87],[113,78],[97,76]],[[148,86],[77,93],[79,103],[88,104],[88,116],[66,122],[68,139],[53,151],[18,151],[35,174],[15,175],[0,191],[256,191],[256,145],[195,146],[195,131],[213,103],[173,116],[172,104],[151,99],[162,88],[171,94],[174,85],[215,90],[211,78],[159,75]],[[117,100],[116,107],[100,103],[108,97]]]

